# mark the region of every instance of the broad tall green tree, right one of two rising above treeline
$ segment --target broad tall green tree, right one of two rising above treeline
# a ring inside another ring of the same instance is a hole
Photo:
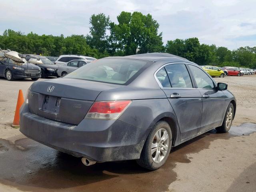
[[[121,12],[118,24],[110,23],[111,51],[121,55],[147,52],[162,52],[162,33],[158,34],[159,24],[150,14]]]

